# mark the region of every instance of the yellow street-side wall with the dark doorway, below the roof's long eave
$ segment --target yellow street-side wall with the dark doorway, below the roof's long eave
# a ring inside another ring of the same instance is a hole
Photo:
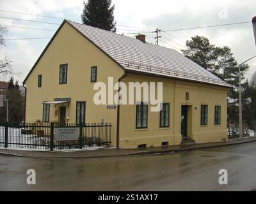
[[[196,143],[227,140],[227,91],[225,87],[182,82],[145,75],[127,75],[122,82],[163,82],[163,103],[170,103],[170,128],[159,128],[159,112],[150,112],[148,105],[148,128],[136,129],[136,105],[120,106],[120,147],[159,147],[162,142],[180,145],[182,136],[181,106],[188,106],[188,137]],[[189,100],[186,101],[186,92]],[[143,94],[141,94],[143,101]],[[134,101],[135,104],[136,101]],[[208,105],[208,124],[200,126],[200,106]],[[214,125],[214,106],[221,106],[221,125]]]

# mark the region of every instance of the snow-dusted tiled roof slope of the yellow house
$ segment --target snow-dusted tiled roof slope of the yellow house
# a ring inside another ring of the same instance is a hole
[[[127,70],[229,87],[176,50],[89,25],[67,22]]]

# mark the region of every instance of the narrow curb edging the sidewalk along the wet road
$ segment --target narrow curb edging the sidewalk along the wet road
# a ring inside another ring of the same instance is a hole
[[[237,140],[237,139],[234,139]],[[230,140],[229,140],[230,141]],[[140,155],[149,155],[149,154],[166,154],[166,153],[176,153],[176,152],[184,152],[189,150],[198,150],[198,149],[209,149],[213,147],[223,147],[223,146],[231,146],[231,145],[239,145],[243,143],[252,143],[256,142],[256,138],[253,138],[253,140],[248,141],[241,141],[237,143],[218,143],[216,145],[209,145],[209,146],[202,146],[202,147],[185,147],[183,149],[176,149],[176,150],[154,150],[154,151],[142,151],[141,152],[135,152],[131,154],[117,154],[117,155],[111,155],[111,156],[77,156],[77,157],[39,157],[39,156],[24,156],[21,154],[14,154],[14,153],[8,153],[8,152],[0,152],[0,155],[4,156],[13,156],[13,157],[26,157],[26,158],[33,158],[33,159],[93,159],[93,158],[102,158],[102,157],[121,157],[121,156],[140,156]],[[210,143],[211,144],[211,143]],[[52,152],[54,153],[54,152]]]

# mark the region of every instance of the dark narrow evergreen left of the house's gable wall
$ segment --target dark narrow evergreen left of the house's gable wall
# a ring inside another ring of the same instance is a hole
[[[10,79],[8,85],[8,91],[6,93],[6,98],[9,99],[9,120],[10,122],[21,122],[24,113],[24,98],[20,94],[18,82],[13,82],[13,77]]]

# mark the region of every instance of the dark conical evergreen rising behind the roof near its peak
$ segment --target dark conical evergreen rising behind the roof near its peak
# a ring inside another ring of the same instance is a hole
[[[111,6],[111,0],[88,0],[87,3],[84,2],[84,10],[81,15],[83,24],[115,33],[114,10],[115,5]]]

